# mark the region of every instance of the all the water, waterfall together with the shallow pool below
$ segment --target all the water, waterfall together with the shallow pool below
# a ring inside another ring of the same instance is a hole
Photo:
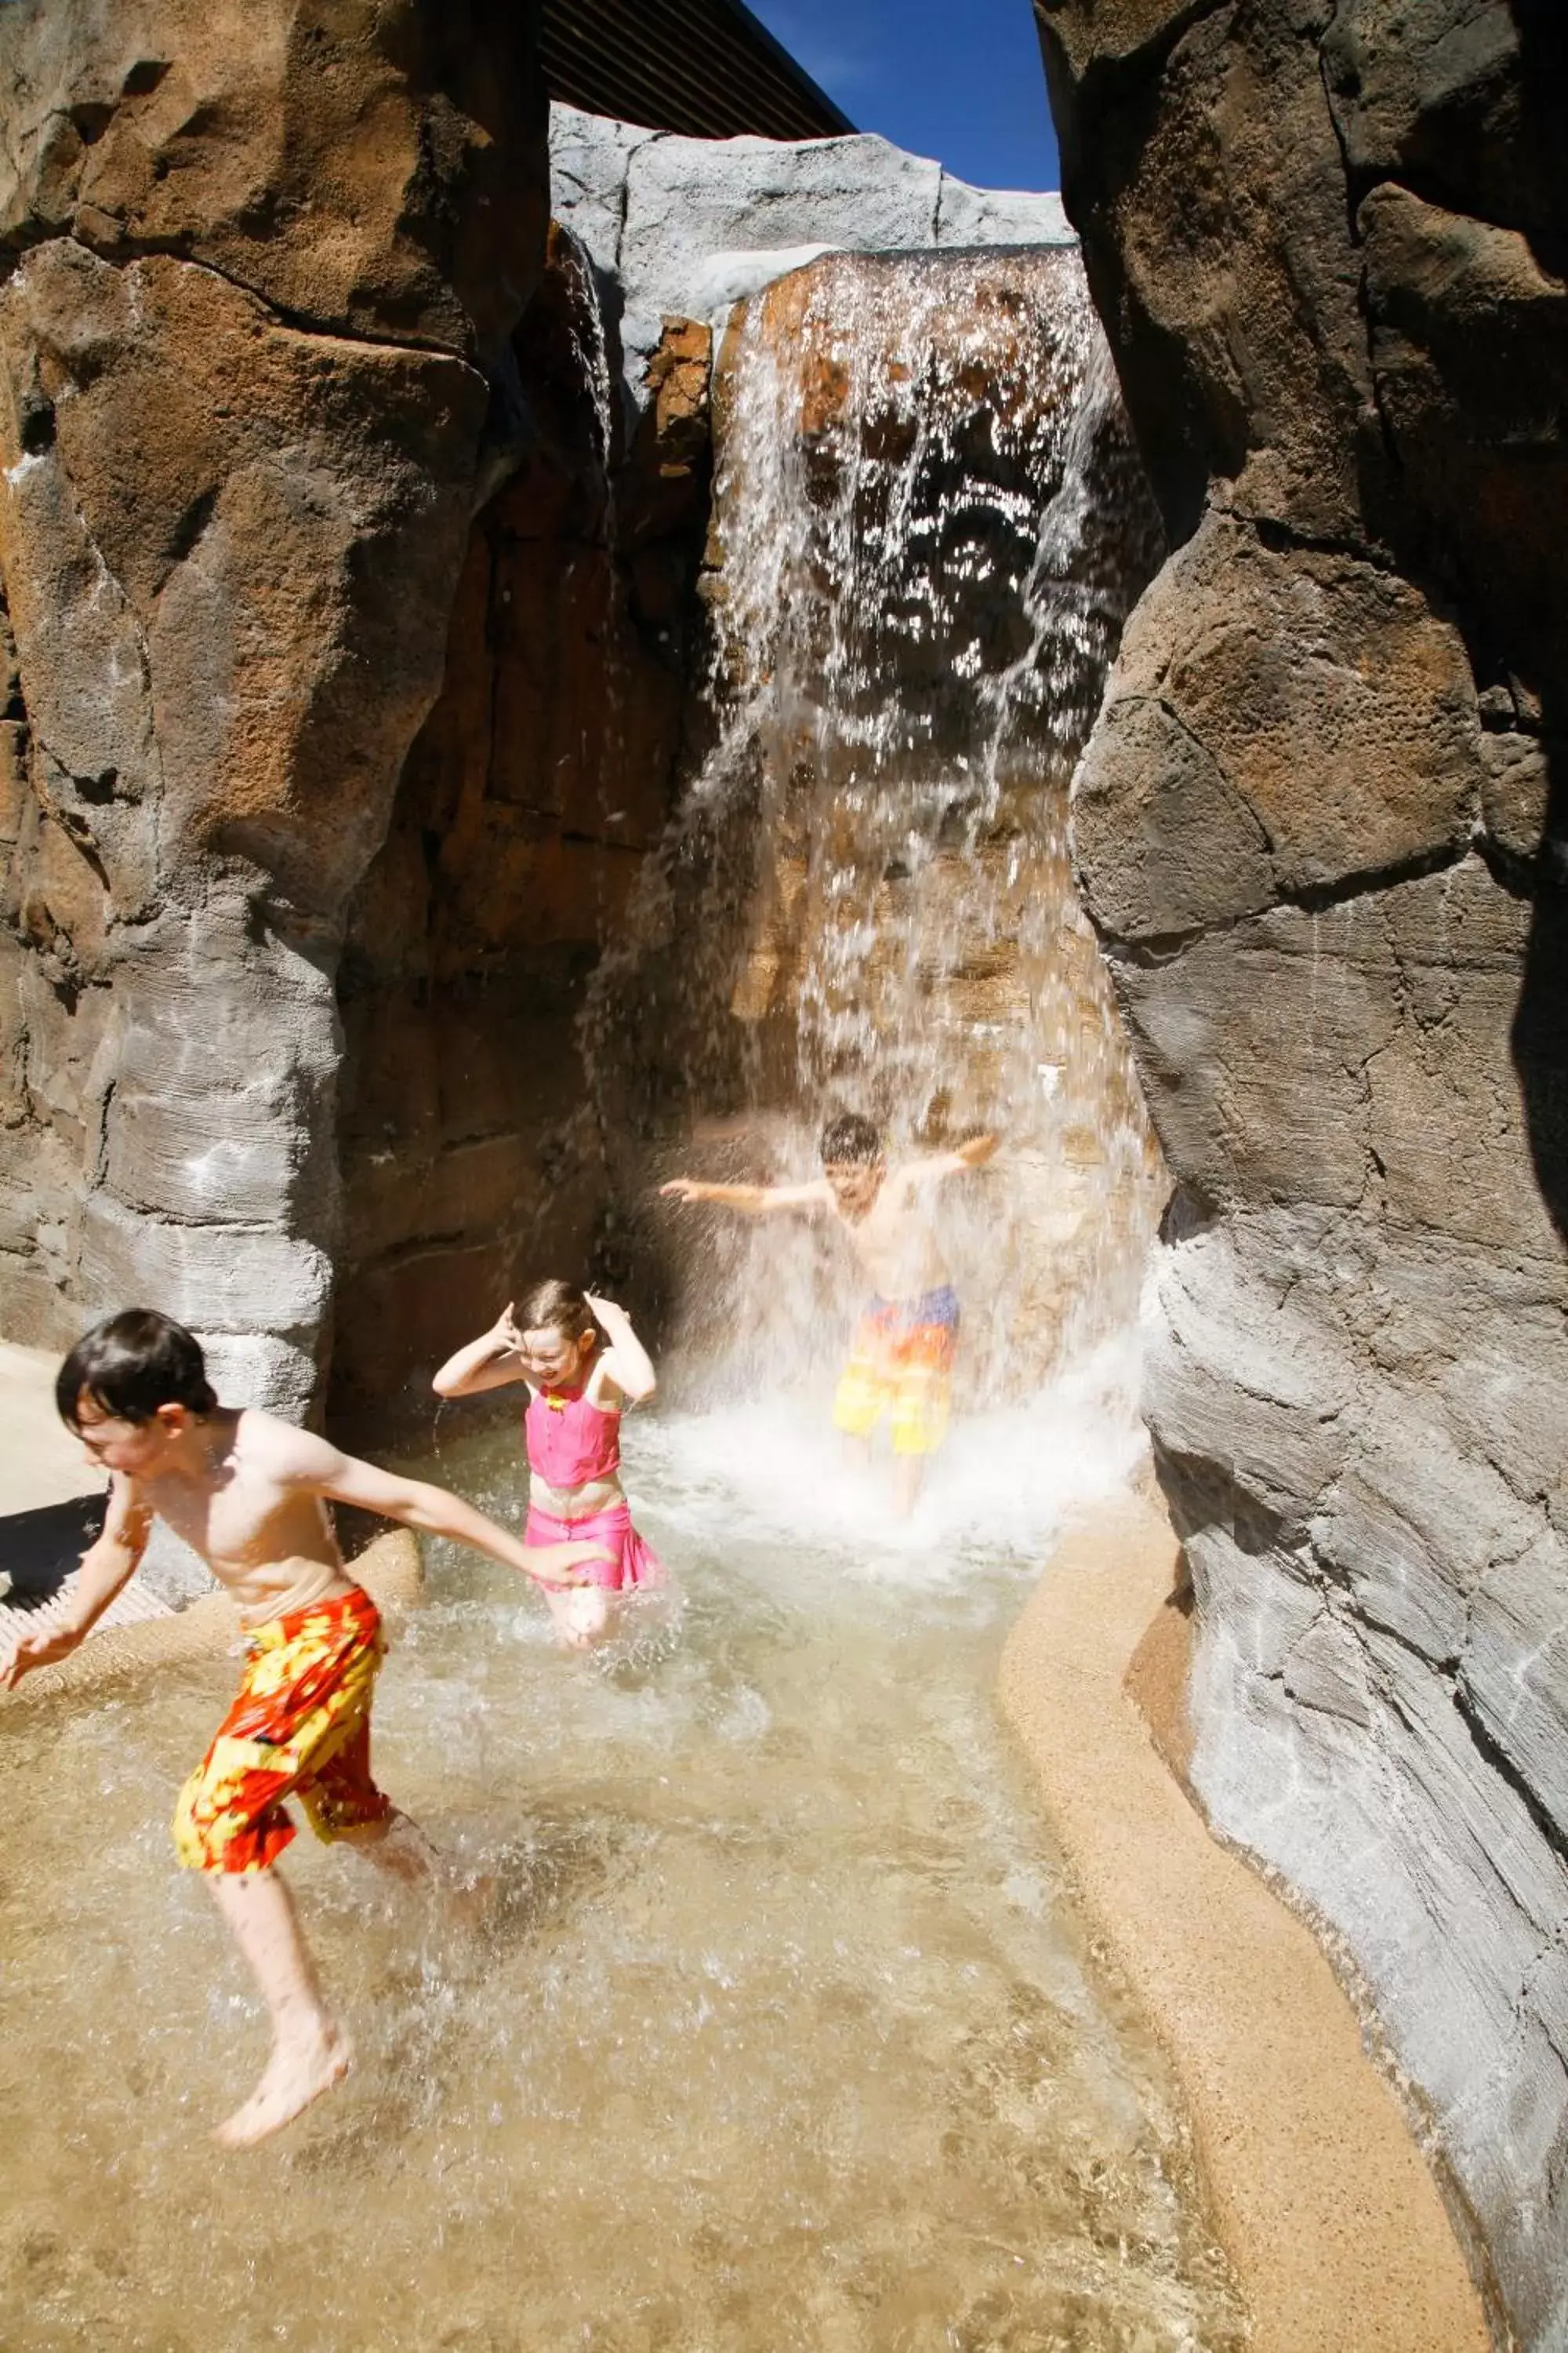
[[[827,1428],[842,1245],[644,1217],[672,1358],[628,1485],[675,1593],[583,1661],[433,1548],[378,1769],[494,1911],[299,1842],[357,2064],[249,2158],[205,2127],[259,2009],[165,1828],[233,1666],[0,1718],[5,2353],[1241,2344],[990,1697],[1138,1452],[1152,1155],[1065,854],[1150,562],[1117,433],[1072,256],[830,256],[750,306],[715,741],[595,993],[599,1120],[637,1202],[693,1158],[809,1172],[825,1106],[898,1151],[997,1127],[945,1207],[954,1435],[889,1529]],[[510,1419],[444,1409],[409,1468],[524,1508]]]

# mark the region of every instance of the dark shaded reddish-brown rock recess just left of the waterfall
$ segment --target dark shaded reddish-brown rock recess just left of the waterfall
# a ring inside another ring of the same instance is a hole
[[[668,320],[630,447],[581,249],[512,346],[527,424],[477,515],[440,699],[339,976],[334,1414],[386,1419],[465,1329],[588,1261],[607,1198],[578,1040],[675,793],[708,520],[708,327]]]

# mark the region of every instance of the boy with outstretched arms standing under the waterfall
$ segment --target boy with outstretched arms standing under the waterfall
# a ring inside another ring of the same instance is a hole
[[[997,1136],[971,1136],[952,1153],[929,1153],[889,1167],[882,1134],[856,1111],[823,1129],[823,1174],[816,1184],[701,1184],[672,1176],[672,1200],[712,1200],[748,1217],[797,1209],[837,1217],[860,1266],[872,1278],[867,1301],[839,1377],[832,1419],[846,1440],[870,1452],[886,1417],[893,1438],[893,1508],[914,1511],[926,1457],[947,1435],[952,1358],[959,1301],[936,1242],[936,1188],[964,1169],[985,1167]]]

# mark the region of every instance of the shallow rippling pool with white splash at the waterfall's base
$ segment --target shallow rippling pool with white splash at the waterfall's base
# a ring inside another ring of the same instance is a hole
[[[1048,1539],[1018,1492],[1039,1518],[1117,1468],[1030,1426],[1006,1508],[992,1431],[896,1544],[804,1421],[628,1426],[682,1605],[597,1661],[433,1548],[376,1765],[496,1915],[463,1944],[301,1838],[357,2066],[247,2158],[207,2127],[261,2014],[167,1845],[233,1661],[0,1713],[7,2353],[1239,2344],[992,1711]],[[454,1428],[437,1475],[515,1513],[512,1433]]]

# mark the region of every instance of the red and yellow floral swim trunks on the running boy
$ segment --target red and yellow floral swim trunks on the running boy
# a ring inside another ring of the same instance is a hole
[[[266,1871],[294,1838],[299,1798],[317,1838],[386,1821],[369,1774],[381,1612],[355,1586],[256,1626],[240,1694],[179,1793],[174,1849],[188,1871]]]

